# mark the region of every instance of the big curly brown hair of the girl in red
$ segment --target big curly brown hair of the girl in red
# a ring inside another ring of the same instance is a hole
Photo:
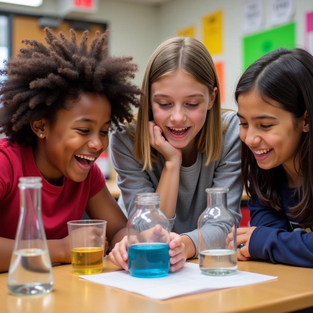
[[[66,109],[67,101],[84,92],[105,95],[111,104],[113,126],[132,119],[132,105],[139,106],[141,90],[129,80],[135,77],[137,65],[132,57],[106,54],[108,30],[97,31],[87,49],[89,31],[79,44],[76,32],[70,29],[70,40],[64,33],[59,38],[46,27],[46,47],[38,40],[25,39],[27,47],[5,63],[0,74],[0,133],[19,144],[33,144],[35,136],[30,122],[48,119],[53,124],[56,112]]]

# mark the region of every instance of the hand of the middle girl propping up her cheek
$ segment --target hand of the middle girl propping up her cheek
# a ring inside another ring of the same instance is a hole
[[[182,162],[181,149],[173,147],[164,136],[162,136],[161,127],[157,126],[154,121],[149,122],[149,136],[150,145],[164,156],[165,161],[178,160],[180,163]]]

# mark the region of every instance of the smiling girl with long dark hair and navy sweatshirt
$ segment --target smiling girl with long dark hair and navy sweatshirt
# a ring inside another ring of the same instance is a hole
[[[313,267],[313,56],[264,55],[241,76],[235,98],[251,215],[251,227],[237,231],[238,259]]]

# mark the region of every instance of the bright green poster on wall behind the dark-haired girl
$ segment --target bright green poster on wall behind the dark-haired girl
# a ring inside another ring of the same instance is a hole
[[[269,51],[295,47],[295,23],[244,37],[244,70]]]

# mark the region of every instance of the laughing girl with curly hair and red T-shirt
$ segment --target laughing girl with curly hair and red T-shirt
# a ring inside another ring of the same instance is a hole
[[[131,57],[107,56],[108,32],[96,32],[87,49],[88,31],[76,43],[45,28],[44,46],[27,48],[10,59],[0,74],[0,272],[8,270],[19,216],[18,178],[42,177],[42,216],[52,263],[70,263],[66,222],[106,220],[110,246],[126,231],[126,217],[94,164],[109,144],[113,124],[131,121],[138,106],[137,70]],[[94,236],[95,234],[90,234]],[[180,236],[173,234],[177,253]],[[107,249],[107,243],[106,243]],[[172,255],[175,255],[176,252]]]

